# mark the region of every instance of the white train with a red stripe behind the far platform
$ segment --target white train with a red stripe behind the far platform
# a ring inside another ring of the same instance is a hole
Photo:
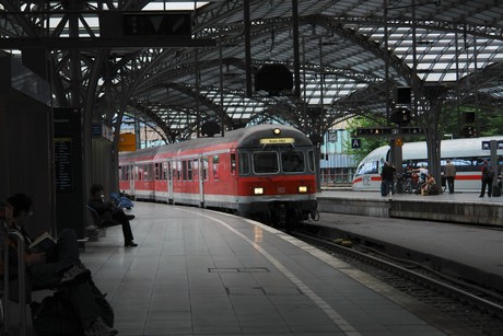
[[[496,140],[503,143],[503,136],[442,140],[442,167],[447,159],[456,165],[456,190],[480,190],[481,164],[491,161],[491,151],[482,149],[482,142]],[[376,148],[360,162],[353,177],[354,190],[379,190],[383,163],[390,158],[389,146]],[[503,150],[498,150],[499,165],[503,163]],[[402,147],[403,166],[428,166],[426,142],[408,142]]]

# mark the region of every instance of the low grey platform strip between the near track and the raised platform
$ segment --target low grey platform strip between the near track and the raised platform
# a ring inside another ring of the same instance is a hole
[[[341,213],[320,216],[324,236],[349,239],[503,292],[503,231],[424,220]]]

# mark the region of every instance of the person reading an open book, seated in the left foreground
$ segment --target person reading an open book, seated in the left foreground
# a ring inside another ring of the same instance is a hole
[[[90,283],[91,271],[82,265],[79,254],[77,233],[72,229],[60,232],[55,247],[49,252],[31,253],[27,246],[33,241],[25,230],[32,215],[32,199],[24,194],[16,194],[7,200],[12,207],[13,219],[9,227],[24,239],[24,260],[28,288],[69,289],[71,302],[78,312],[82,329],[87,335],[117,335],[117,331],[106,325],[101,316],[100,306],[93,296]],[[16,278],[17,247],[16,241],[9,239],[9,275]],[[11,270],[12,269],[12,270]]]

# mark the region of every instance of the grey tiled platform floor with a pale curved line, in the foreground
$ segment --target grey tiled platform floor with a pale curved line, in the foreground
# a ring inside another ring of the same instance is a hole
[[[114,227],[81,255],[119,335],[476,335],[260,223],[151,202],[131,212],[138,247]]]

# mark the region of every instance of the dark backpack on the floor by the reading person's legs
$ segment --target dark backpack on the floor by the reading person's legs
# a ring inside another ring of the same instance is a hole
[[[91,290],[103,321],[114,326],[114,310],[96,287],[92,279],[89,280]],[[65,289],[46,297],[42,302],[32,302],[33,329],[39,336],[82,336],[83,329],[79,315],[73,308],[69,292]]]

